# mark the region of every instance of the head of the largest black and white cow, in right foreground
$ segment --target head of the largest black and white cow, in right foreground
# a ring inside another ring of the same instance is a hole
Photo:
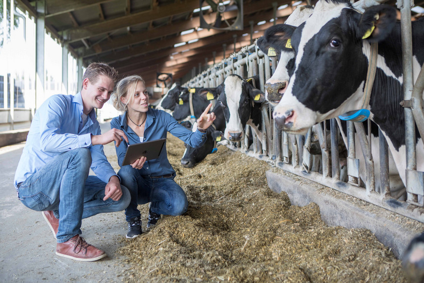
[[[317,122],[360,109],[369,42],[383,40],[395,21],[390,6],[374,6],[362,15],[348,1],[321,0],[304,24],[283,26],[276,36],[291,38],[296,59],[287,90],[274,108],[278,127],[305,133]]]

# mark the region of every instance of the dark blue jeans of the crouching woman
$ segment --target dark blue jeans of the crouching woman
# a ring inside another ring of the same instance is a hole
[[[174,181],[175,175],[169,178],[150,178],[141,176],[140,171],[131,165],[125,165],[118,172],[122,184],[131,194],[130,205],[125,210],[125,220],[139,217],[137,205],[149,202],[151,211],[157,214],[177,216],[187,211],[187,196]]]

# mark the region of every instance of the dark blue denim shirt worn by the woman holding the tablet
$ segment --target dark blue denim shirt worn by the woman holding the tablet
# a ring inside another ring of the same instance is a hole
[[[111,122],[112,128],[123,130],[128,137],[129,144],[139,144],[140,138],[138,135],[127,125],[127,112],[115,117]],[[201,133],[199,130],[192,132],[178,123],[174,117],[169,113],[162,110],[151,109],[147,111],[146,123],[144,125],[144,141],[150,141],[167,137],[167,132],[178,137],[184,143],[189,144],[192,148],[200,147],[206,141],[206,133]],[[125,153],[127,152],[128,144],[122,141],[118,148],[116,148],[116,155],[118,156],[118,164],[122,167]],[[174,174],[175,170],[172,168],[168,161],[168,155],[165,148],[162,150],[159,158],[146,161],[143,168],[140,169],[141,176],[162,176],[167,174]]]

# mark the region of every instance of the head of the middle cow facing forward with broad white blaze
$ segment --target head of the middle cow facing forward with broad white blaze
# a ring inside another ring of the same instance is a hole
[[[250,119],[254,104],[261,104],[265,95],[239,75],[229,75],[220,85],[218,98],[226,120],[225,138],[240,141],[244,137],[244,129]]]

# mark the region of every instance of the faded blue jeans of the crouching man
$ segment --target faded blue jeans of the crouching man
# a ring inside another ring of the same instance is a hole
[[[18,198],[26,207],[52,210],[59,218],[58,243],[81,234],[82,218],[122,211],[130,202],[130,193],[124,186],[119,201],[111,198],[103,201],[106,183],[96,176],[88,176],[90,165],[88,149],[71,150],[58,155],[19,186]]]

